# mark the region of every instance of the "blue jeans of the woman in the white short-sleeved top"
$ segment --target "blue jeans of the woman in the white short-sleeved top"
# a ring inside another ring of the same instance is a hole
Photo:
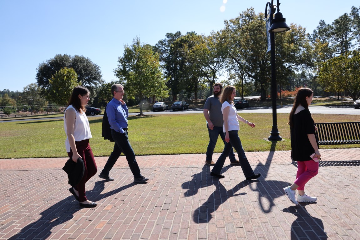
[[[212,169],[213,173],[221,174],[221,169],[224,167],[226,156],[229,155],[230,150],[234,147],[234,149],[238,153],[239,162],[241,169],[243,170],[245,177],[251,177],[254,175],[254,171],[252,170],[249,161],[246,158],[243,146],[241,145],[241,141],[238,135],[238,131],[229,131],[229,142],[225,142],[224,150],[222,154],[217,159],[214,168]]]

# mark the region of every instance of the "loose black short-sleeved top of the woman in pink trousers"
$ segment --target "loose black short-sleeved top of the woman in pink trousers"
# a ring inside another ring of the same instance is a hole
[[[308,134],[315,134],[315,123],[311,113],[303,109],[292,116],[293,127],[290,127],[291,156],[294,161],[309,161],[315,152]],[[316,135],[315,135],[316,136]],[[316,139],[317,142],[317,139]]]

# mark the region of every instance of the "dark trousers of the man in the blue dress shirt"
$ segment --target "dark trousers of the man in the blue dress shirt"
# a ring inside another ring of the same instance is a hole
[[[121,153],[123,153],[126,157],[127,163],[129,164],[132,175],[134,175],[134,178],[140,177],[140,168],[138,163],[136,162],[134,150],[132,150],[132,147],[130,145],[127,131],[125,131],[124,133],[120,133],[111,130],[111,136],[115,141],[114,150],[110,154],[110,157],[105,164],[105,167],[102,171],[103,175],[109,175],[110,170],[116,163],[117,159],[120,157]]]

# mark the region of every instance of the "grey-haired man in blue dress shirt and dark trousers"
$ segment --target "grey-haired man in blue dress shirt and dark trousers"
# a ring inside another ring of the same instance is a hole
[[[125,101],[122,100],[122,97],[124,96],[124,87],[121,84],[114,84],[111,86],[111,92],[113,99],[109,101],[105,111],[111,128],[111,136],[113,137],[115,144],[114,150],[110,154],[99,177],[104,178],[107,181],[113,181],[114,178],[109,177],[109,172],[121,153],[123,153],[129,164],[132,175],[134,175],[134,182],[144,183],[148,181],[149,178],[140,174],[140,168],[136,162],[134,150],[132,150],[129,137],[127,136],[127,117],[129,117],[129,109],[126,106]]]

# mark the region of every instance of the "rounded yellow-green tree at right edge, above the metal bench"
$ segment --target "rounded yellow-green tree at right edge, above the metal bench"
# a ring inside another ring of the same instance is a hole
[[[346,91],[355,101],[360,96],[360,52],[352,51],[327,60],[320,67],[318,79],[325,91]]]

